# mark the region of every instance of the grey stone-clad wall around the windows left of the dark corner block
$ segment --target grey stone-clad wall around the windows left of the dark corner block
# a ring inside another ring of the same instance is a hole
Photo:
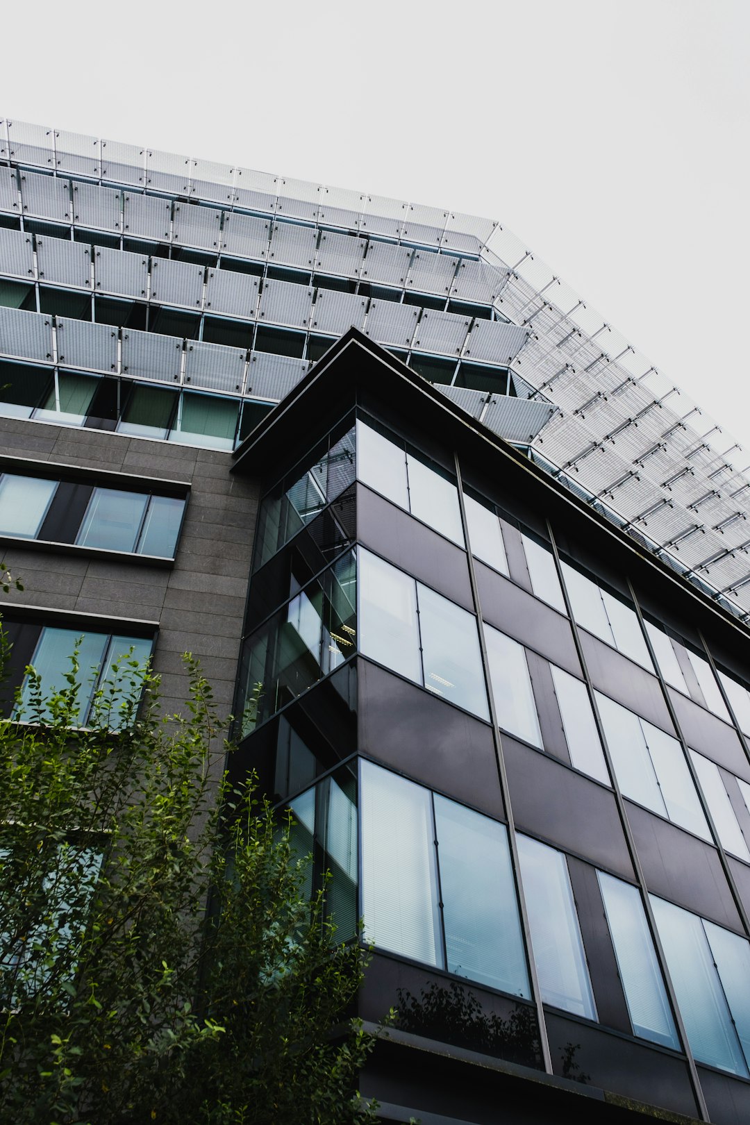
[[[188,680],[181,655],[190,651],[200,659],[220,708],[228,711],[257,510],[257,488],[231,475],[231,454],[18,418],[0,418],[0,452],[190,482],[172,568],[144,566],[127,556],[109,560],[31,544],[10,548],[6,561],[26,588],[2,597],[2,609],[39,605],[157,620],[154,668],[162,676],[164,709],[171,713],[182,708]]]

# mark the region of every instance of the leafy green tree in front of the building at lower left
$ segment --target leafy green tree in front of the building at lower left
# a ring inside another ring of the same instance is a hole
[[[76,657],[52,699],[27,673],[0,723],[0,1119],[376,1120],[347,1018],[367,953],[306,899],[289,821],[222,780],[197,664],[160,719],[123,662],[87,729]]]

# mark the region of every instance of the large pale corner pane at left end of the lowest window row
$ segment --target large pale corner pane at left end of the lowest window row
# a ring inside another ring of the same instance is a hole
[[[430,792],[370,762],[361,771],[365,936],[442,969]]]

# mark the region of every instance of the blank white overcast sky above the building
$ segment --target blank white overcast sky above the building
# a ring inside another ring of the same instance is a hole
[[[750,450],[748,0],[42,0],[3,40],[11,119],[499,219]]]

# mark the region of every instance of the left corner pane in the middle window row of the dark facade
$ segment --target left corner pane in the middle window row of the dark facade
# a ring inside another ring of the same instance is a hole
[[[360,549],[360,649],[422,683],[414,578]]]

